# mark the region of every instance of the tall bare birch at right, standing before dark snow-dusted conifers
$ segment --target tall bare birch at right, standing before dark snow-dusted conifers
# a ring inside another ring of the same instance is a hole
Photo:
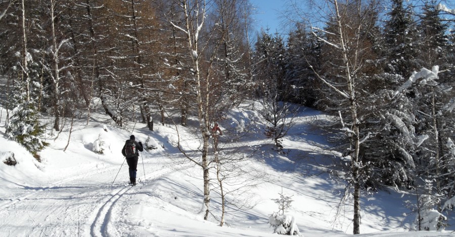
[[[363,177],[360,172],[362,167],[360,149],[361,141],[368,139],[361,133],[362,97],[359,93],[360,80],[365,74],[365,65],[371,57],[371,40],[368,36],[374,30],[374,17],[377,2],[375,1],[325,1],[327,8],[321,9],[327,18],[327,27],[324,29],[311,27],[312,34],[321,40],[324,47],[332,53],[334,60],[334,73],[320,74],[313,69],[315,77],[323,85],[335,92],[331,97],[338,100],[342,131],[348,140],[345,151],[350,158],[350,179],[349,185],[353,188],[353,233],[360,233],[360,189]],[[324,36],[324,37],[322,37]]]

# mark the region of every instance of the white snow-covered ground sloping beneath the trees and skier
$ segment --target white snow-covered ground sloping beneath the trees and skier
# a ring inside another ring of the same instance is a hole
[[[150,132],[143,124],[134,125],[136,141],[144,143],[150,136],[158,149],[141,154],[141,183],[131,187],[126,185],[128,168],[120,150],[133,125],[118,129],[106,123],[103,115],[94,114],[88,126],[86,120],[76,121],[65,152],[69,131],[57,138],[57,134],[48,135],[51,145],[40,153],[42,162],[37,162],[5,137],[6,111],[2,113],[0,157],[13,151],[18,164],[0,163],[0,236],[277,236],[267,221],[278,211],[271,199],[279,198],[281,192],[292,196],[288,214],[296,218],[304,236],[352,233],[351,200],[338,211],[343,183],[331,179],[323,168],[335,156],[325,150],[330,147],[326,136],[310,125],[328,119],[319,111],[300,110],[284,141],[288,155],[270,149],[271,141],[264,137],[256,112],[245,105],[231,113],[231,123],[224,126],[248,125],[248,136],[231,141],[233,134],[226,134],[220,140],[220,154],[235,151],[251,157],[244,165],[260,179],[234,197],[255,205],[246,210],[229,207],[222,227],[218,225],[220,199],[214,191],[213,215],[203,220],[202,170],[181,162],[183,156],[173,145],[176,130],[172,126],[155,124],[155,131]],[[179,127],[178,132],[189,147],[197,144],[190,129]],[[104,154],[93,151],[99,137],[105,143]],[[247,184],[251,176],[249,173],[238,182]],[[453,235],[453,225],[443,232],[408,231],[414,216],[403,215],[410,212],[404,200],[412,201],[413,196],[394,190],[364,194],[362,234],[358,236]],[[449,222],[454,223],[453,217]]]

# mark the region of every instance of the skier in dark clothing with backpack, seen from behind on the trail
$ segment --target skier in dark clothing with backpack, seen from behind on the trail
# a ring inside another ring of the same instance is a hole
[[[136,172],[138,171],[139,152],[144,151],[142,142],[136,142],[134,135],[129,136],[122,148],[122,154],[126,158],[129,167],[129,184],[136,185]]]

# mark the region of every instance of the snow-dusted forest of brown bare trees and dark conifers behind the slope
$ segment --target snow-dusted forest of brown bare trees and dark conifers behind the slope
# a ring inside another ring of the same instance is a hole
[[[361,190],[384,186],[415,190],[415,209],[437,211],[443,228],[455,203],[450,6],[297,3],[284,40],[255,32],[248,0],[0,0],[7,136],[39,160],[43,135],[88,123],[95,99],[118,127],[196,118],[207,217],[213,124],[260,101],[264,133],[283,152],[289,103],[314,107],[339,118],[326,129],[350,161],[336,165],[354,196],[354,233]]]

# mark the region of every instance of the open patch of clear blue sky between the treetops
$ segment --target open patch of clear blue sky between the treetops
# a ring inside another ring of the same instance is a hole
[[[250,2],[257,8],[257,14],[253,15],[256,20],[256,27],[258,31],[262,28],[270,28],[269,33],[279,32],[282,34],[287,33],[283,31],[280,26],[281,12],[285,9],[287,1],[284,0],[250,0]]]

